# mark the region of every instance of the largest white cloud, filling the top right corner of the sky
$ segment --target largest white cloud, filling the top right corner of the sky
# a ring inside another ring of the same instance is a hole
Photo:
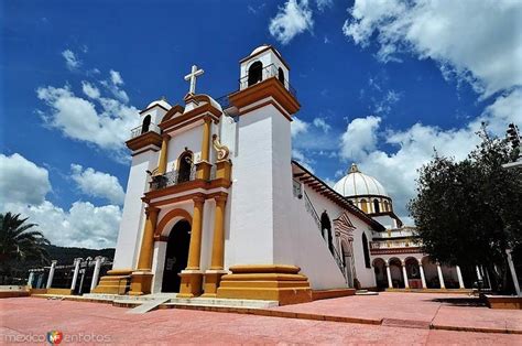
[[[356,0],[349,12],[344,33],[361,46],[376,37],[383,62],[432,58],[485,97],[522,85],[521,1]]]

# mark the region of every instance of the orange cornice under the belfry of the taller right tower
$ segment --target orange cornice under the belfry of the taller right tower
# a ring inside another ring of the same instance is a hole
[[[297,99],[286,90],[275,77],[270,77],[248,88],[236,91],[229,96],[229,100],[230,104],[241,109],[269,97],[275,99],[289,115],[295,113],[301,108]]]

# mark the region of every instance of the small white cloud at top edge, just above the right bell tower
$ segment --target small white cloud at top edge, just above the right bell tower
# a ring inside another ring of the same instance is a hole
[[[295,35],[311,31],[313,26],[308,0],[289,0],[270,21],[269,31],[281,44],[287,44]]]

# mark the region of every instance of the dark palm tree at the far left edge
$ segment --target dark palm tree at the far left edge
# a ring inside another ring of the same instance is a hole
[[[0,271],[8,277],[21,262],[48,263],[44,246],[51,242],[41,231],[31,230],[37,225],[26,220],[20,214],[0,214]]]

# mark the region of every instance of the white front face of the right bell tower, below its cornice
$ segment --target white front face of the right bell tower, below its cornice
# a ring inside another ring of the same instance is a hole
[[[267,106],[241,116],[237,123],[226,267],[273,263],[272,117],[282,116]]]

